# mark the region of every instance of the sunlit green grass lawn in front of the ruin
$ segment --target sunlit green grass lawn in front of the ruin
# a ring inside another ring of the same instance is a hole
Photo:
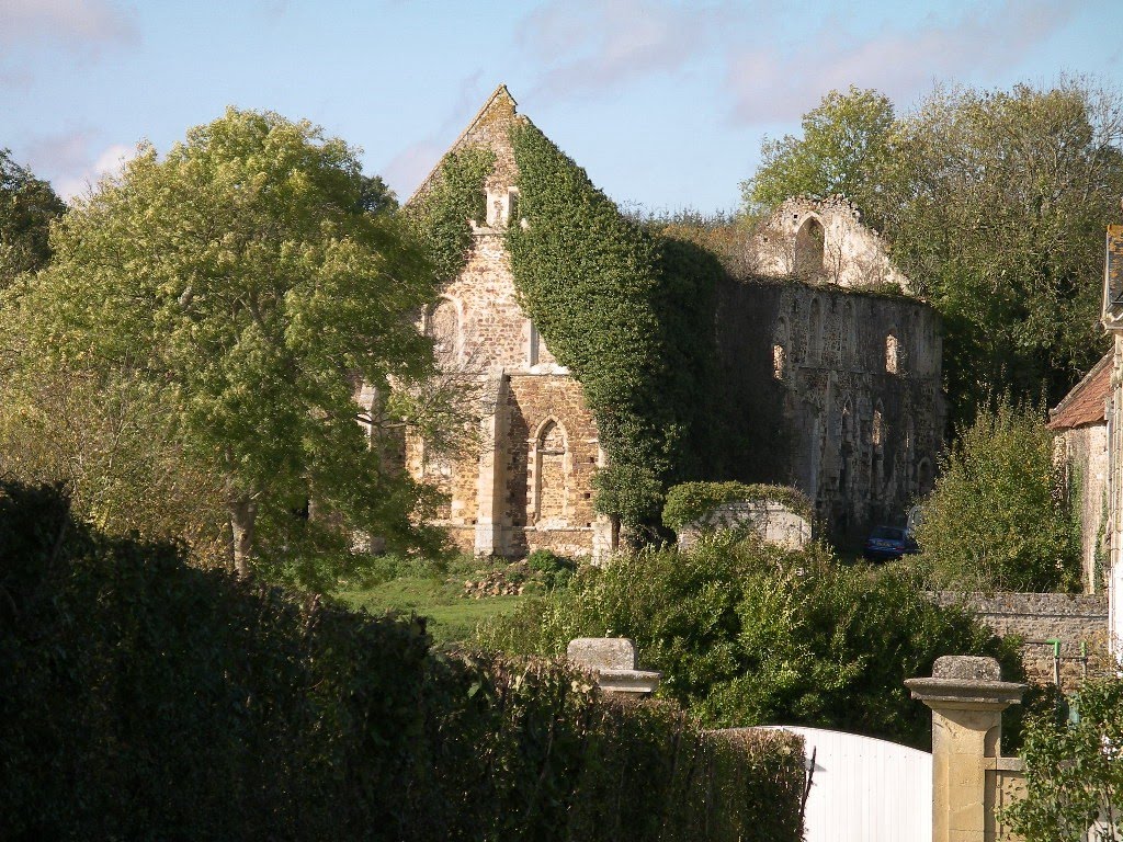
[[[374,587],[339,591],[340,600],[372,614],[387,611],[429,617],[429,633],[438,643],[455,643],[472,638],[476,624],[495,614],[510,614],[527,596],[487,596],[467,600],[460,594],[464,577],[451,580],[438,577],[403,576]]]

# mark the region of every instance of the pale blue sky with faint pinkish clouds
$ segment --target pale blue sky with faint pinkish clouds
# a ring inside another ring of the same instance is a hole
[[[0,0],[0,147],[66,199],[228,104],[305,118],[409,198],[491,92],[633,210],[733,211],[831,89],[1123,89],[1120,0]]]

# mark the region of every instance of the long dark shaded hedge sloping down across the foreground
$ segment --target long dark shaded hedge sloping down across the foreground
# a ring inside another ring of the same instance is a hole
[[[0,488],[0,838],[800,839],[802,743],[188,566]]]

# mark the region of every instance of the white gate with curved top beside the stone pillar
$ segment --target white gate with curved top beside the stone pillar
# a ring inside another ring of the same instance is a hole
[[[806,842],[930,842],[932,756],[871,736],[784,725],[803,738]]]

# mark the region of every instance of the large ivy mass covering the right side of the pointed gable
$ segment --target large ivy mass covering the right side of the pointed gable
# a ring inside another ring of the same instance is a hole
[[[651,525],[705,452],[713,359],[709,253],[646,232],[529,122],[511,129],[520,214],[506,234],[520,302],[581,382],[609,470],[599,511]]]

